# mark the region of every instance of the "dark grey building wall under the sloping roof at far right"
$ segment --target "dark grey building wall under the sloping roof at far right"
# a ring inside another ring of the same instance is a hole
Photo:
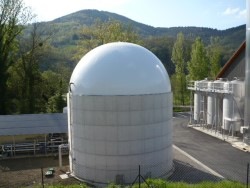
[[[227,78],[228,80],[233,80],[234,77],[245,78],[245,55],[245,50],[243,50],[234,60],[238,63],[231,63],[231,65],[225,70],[224,74],[220,77]]]

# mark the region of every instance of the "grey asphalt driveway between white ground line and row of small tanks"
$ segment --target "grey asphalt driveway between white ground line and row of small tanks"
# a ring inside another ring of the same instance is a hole
[[[175,113],[173,143],[201,163],[229,180],[246,183],[250,153],[188,127],[189,114]]]

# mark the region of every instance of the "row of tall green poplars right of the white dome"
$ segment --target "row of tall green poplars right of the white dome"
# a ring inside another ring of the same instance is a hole
[[[205,78],[215,79],[220,71],[222,48],[219,39],[211,38],[210,44],[205,47],[201,38],[197,37],[189,50],[184,35],[179,33],[172,50],[172,62],[175,65],[175,73],[171,77],[174,102],[176,105],[189,104],[187,84]]]

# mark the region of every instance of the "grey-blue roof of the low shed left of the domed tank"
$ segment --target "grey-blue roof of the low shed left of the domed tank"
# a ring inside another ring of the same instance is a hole
[[[0,136],[67,132],[66,113],[0,116]]]

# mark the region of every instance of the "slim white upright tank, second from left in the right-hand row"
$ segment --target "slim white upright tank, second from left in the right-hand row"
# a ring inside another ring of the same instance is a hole
[[[215,93],[213,92],[213,81],[209,81],[207,86],[207,124],[212,125],[214,123],[215,115]]]

